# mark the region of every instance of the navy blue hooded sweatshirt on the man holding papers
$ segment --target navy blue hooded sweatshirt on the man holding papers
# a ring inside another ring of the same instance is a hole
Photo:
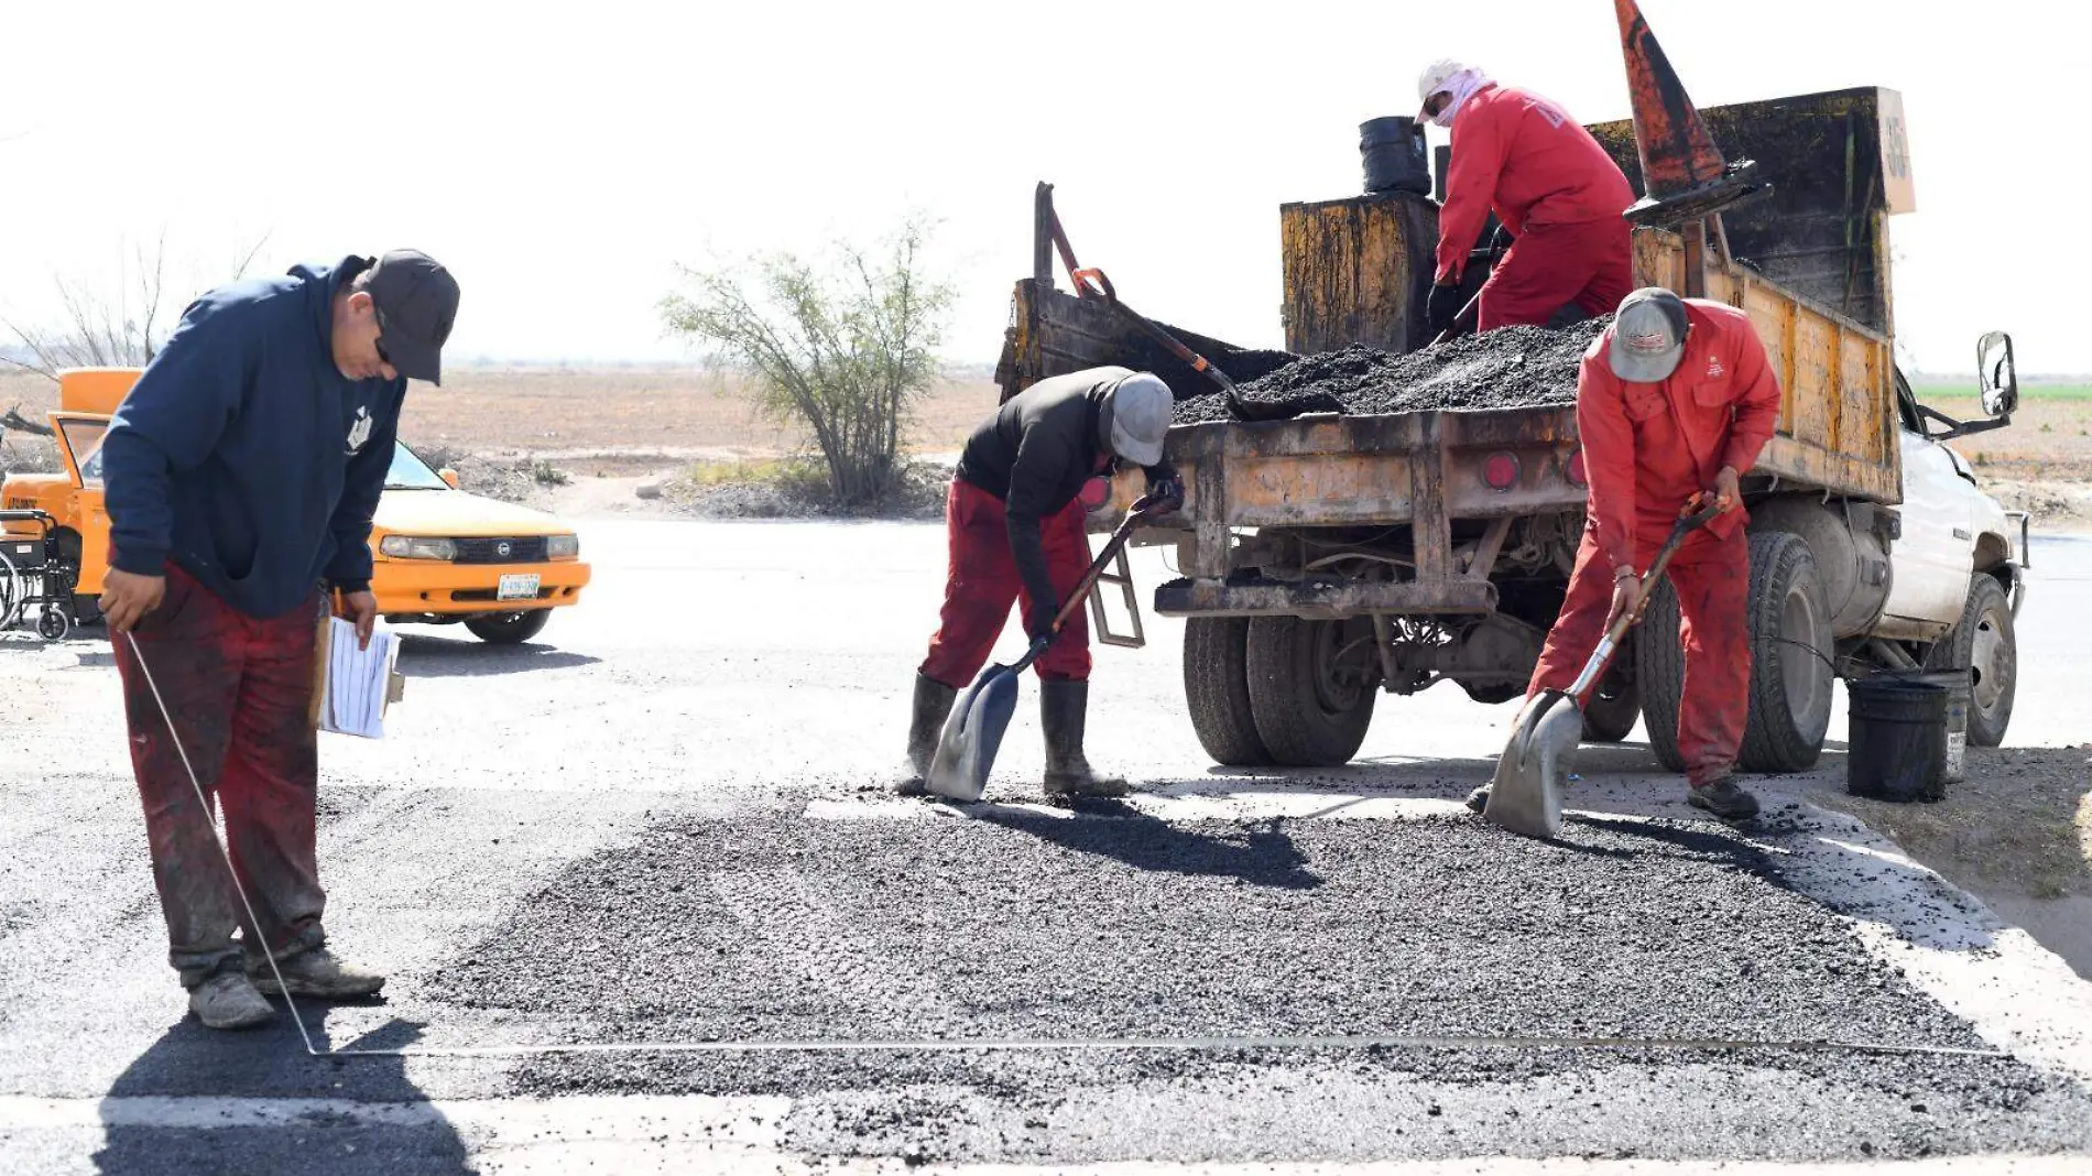
[[[335,293],[366,268],[297,266],[182,312],[103,439],[115,567],[172,561],[249,617],[297,609],[322,580],[370,586],[406,381],[335,366]]]

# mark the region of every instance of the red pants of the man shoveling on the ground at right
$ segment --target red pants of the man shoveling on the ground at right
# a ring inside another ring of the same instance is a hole
[[[1636,544],[1636,567],[1657,559],[1661,542]],[[1728,538],[1690,536],[1672,557],[1669,582],[1678,590],[1680,640],[1686,651],[1686,686],[1678,705],[1678,753],[1692,787],[1711,785],[1736,766],[1743,720],[1751,705],[1751,632],[1745,609],[1751,596],[1751,544],[1743,527]],[[1584,532],[1569,573],[1569,596],[1540,651],[1540,668],[1525,697],[1567,691],[1605,636],[1613,607],[1613,569],[1598,542]],[[1648,632],[1636,634],[1640,640]]]

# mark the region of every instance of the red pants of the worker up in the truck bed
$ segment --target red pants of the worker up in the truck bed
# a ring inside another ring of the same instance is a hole
[[[1613,314],[1634,291],[1632,232],[1621,218],[1527,226],[1483,282],[1475,329],[1544,326],[1571,301]]]

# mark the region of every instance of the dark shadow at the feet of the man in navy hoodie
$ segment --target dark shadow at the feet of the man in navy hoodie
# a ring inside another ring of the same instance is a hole
[[[324,1009],[301,1013],[326,1048]],[[395,1019],[354,1046],[416,1040],[420,1025]],[[406,1059],[308,1057],[280,1002],[276,1021],[249,1032],[182,1017],[115,1080],[100,1117],[94,1170],[109,1176],[471,1170],[456,1128],[406,1078]]]

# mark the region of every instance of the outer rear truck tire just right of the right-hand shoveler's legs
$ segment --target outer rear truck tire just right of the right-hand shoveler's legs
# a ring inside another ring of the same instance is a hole
[[[1751,536],[1751,711],[1736,764],[1805,772],[1830,730],[1830,601],[1810,544],[1791,532]]]

